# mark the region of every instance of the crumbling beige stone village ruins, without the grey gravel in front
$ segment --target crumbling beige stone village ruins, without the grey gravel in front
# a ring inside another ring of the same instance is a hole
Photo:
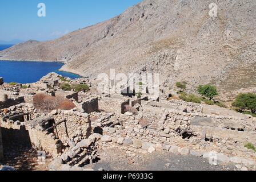
[[[53,157],[51,170],[87,170],[87,164],[99,160],[98,150],[111,148],[124,150],[127,155],[166,151],[207,159],[214,152],[217,164],[255,169],[256,154],[244,147],[249,142],[256,146],[256,121],[248,115],[233,115],[232,111],[229,115],[219,111],[209,114],[202,104],[156,101],[146,94],[137,98],[64,92],[55,85],[54,90],[21,90],[25,101],[33,96],[26,92],[62,95],[76,106],[42,114],[25,102],[2,110],[5,132],[25,131],[34,148]]]

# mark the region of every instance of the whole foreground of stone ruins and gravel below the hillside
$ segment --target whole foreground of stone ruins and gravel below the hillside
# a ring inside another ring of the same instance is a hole
[[[77,85],[65,91],[63,84]],[[56,73],[33,84],[2,81],[3,164],[51,171],[255,170],[256,118],[251,115],[167,100],[168,93],[158,101],[149,93],[75,92],[85,84],[97,86],[87,78],[71,80]],[[61,107],[56,97],[73,107]],[[38,151],[50,154],[42,165]],[[211,160],[218,166],[211,166]]]

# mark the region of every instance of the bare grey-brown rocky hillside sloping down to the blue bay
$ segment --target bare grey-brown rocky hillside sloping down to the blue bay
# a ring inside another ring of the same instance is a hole
[[[214,82],[239,90],[234,79],[255,75],[256,1],[145,0],[123,14],[49,42],[29,41],[0,52],[1,60],[65,61],[62,70],[82,76],[155,72],[166,87]],[[239,67],[246,73],[240,74]],[[250,76],[248,77],[250,80]],[[246,79],[243,81],[247,81]],[[232,86],[228,86],[228,85]],[[247,87],[255,87],[250,82]]]

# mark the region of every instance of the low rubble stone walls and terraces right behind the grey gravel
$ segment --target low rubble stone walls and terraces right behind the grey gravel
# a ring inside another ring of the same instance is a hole
[[[246,143],[256,145],[255,123],[243,119],[237,121],[233,118],[163,108],[154,108],[150,111],[151,113],[149,110],[143,110],[138,116],[126,117],[123,119],[123,126],[106,127],[103,134],[110,135],[112,142],[119,147],[125,147],[125,150],[147,151],[153,147],[154,150],[167,150],[182,155],[189,155],[190,152],[203,155],[214,151],[217,152],[220,162],[256,165],[255,152],[244,147]],[[139,118],[142,116],[149,121],[149,126],[144,129],[139,125]],[[193,119],[197,116],[210,117],[212,120],[206,123],[214,123],[214,126],[207,126],[204,122],[195,122],[193,125]],[[219,123],[225,123],[225,119],[231,123],[243,121],[244,131],[240,131],[239,128],[217,126]],[[193,134],[189,137],[179,135],[186,129],[193,131]]]

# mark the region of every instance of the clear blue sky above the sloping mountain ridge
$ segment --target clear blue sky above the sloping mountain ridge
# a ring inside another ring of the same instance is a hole
[[[141,0],[1,0],[0,40],[50,40],[113,18]],[[38,3],[46,17],[39,18]]]

